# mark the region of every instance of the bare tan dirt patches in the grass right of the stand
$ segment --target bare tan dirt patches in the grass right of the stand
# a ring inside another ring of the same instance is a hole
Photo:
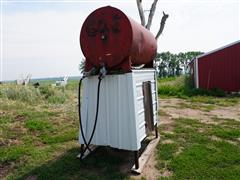
[[[200,108],[196,108],[196,105]],[[163,115],[160,113],[160,121],[159,125],[164,125],[167,127],[167,131],[169,133],[173,130],[173,119],[175,118],[192,118],[199,119],[204,123],[216,123],[213,118],[227,118],[227,119],[235,119],[240,121],[240,103],[234,106],[218,106],[214,105],[211,110],[206,110],[201,107],[205,107],[205,103],[192,102],[177,99],[177,98],[169,98],[169,99],[160,99],[159,100],[160,111],[164,112]],[[161,132],[159,132],[161,135]],[[213,137],[214,138],[214,137]],[[161,139],[160,139],[161,141]],[[164,143],[172,143],[172,142],[164,142]],[[134,179],[142,179],[143,177],[147,180],[155,180],[160,176],[166,177],[171,176],[171,172],[165,171],[160,173],[156,169],[156,158],[155,154],[152,154],[145,165],[143,172],[139,176],[133,176]]]

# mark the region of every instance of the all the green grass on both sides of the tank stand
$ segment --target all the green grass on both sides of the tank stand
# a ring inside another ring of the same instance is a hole
[[[239,97],[188,97],[184,88],[176,87],[182,86],[184,78],[159,82],[160,86],[169,86],[168,91],[171,86],[177,88],[177,94],[169,95],[166,91],[160,96],[184,98],[177,104],[179,108],[208,113],[240,102]],[[70,81],[65,88],[54,88],[47,82],[41,84],[38,89],[12,84],[0,86],[0,170],[5,172],[0,179],[130,179],[122,167],[132,160],[131,152],[100,147],[84,163],[76,158],[78,81]],[[158,114],[171,118],[164,109]],[[156,149],[158,171],[171,172],[168,179],[239,179],[240,122],[218,117],[211,120],[216,124],[204,124],[190,117],[172,119],[171,124],[160,126],[161,141]]]

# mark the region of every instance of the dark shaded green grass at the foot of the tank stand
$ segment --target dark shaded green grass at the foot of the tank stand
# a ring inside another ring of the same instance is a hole
[[[66,151],[60,158],[44,164],[30,173],[24,174],[19,179],[35,176],[38,179],[124,179],[116,164],[121,164],[122,159],[115,155],[109,155],[105,149],[99,149],[94,157],[89,157],[85,163],[81,163],[76,154],[78,148]]]

